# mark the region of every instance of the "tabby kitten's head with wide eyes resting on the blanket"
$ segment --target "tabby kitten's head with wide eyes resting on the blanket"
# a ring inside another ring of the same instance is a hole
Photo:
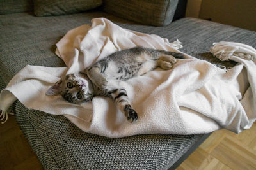
[[[92,81],[85,74],[68,74],[57,81],[47,90],[47,96],[61,94],[63,98],[71,103],[82,103],[91,101],[93,97]]]

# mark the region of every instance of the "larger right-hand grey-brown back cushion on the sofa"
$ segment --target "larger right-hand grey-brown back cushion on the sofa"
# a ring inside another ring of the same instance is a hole
[[[104,0],[103,10],[145,25],[163,26],[172,22],[179,0]]]

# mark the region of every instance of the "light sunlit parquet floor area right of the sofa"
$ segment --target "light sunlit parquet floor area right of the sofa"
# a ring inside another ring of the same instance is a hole
[[[181,169],[256,169],[256,123],[240,134],[213,132],[177,168]]]

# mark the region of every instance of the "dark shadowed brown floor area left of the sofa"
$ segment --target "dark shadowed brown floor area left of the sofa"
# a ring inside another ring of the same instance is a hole
[[[0,123],[0,169],[43,169],[12,115]]]

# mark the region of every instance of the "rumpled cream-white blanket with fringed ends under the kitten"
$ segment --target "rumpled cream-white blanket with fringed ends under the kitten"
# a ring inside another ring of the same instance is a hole
[[[256,119],[253,60],[229,53],[228,59],[239,64],[225,71],[184,53],[186,59],[178,60],[172,70],[158,68],[120,83],[138,112],[138,122],[130,123],[107,97],[97,96],[78,106],[61,96],[45,96],[45,92],[61,75],[80,71],[116,50],[145,46],[179,52],[180,42],[169,43],[168,39],[122,29],[105,18],[95,18],[92,26],[82,25],[68,31],[56,46],[56,54],[67,67],[24,67],[1,91],[2,117],[19,99],[27,108],[65,115],[85,132],[113,138],[134,134],[199,134],[223,127],[239,133],[250,128]],[[225,48],[221,52],[218,49],[212,48],[212,53],[220,56],[225,52]]]

